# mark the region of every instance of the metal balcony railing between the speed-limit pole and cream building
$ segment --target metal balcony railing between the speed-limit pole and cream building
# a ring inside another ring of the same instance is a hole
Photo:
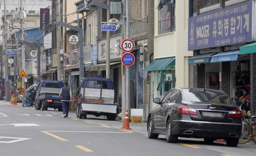
[[[140,38],[148,35],[148,16],[130,22],[130,38]]]

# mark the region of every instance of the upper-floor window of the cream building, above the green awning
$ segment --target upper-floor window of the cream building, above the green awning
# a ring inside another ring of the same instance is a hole
[[[175,31],[175,0],[159,0],[158,35]]]

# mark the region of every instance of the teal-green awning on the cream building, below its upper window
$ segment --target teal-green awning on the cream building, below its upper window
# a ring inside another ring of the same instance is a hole
[[[144,72],[144,71],[163,70],[166,68],[166,66],[172,63],[173,60],[175,60],[175,57],[156,59],[152,63],[150,63],[146,68],[144,68],[144,70],[142,71]]]

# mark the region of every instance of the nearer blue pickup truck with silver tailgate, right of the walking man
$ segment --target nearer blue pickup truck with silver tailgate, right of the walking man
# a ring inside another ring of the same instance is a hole
[[[87,114],[104,115],[108,120],[116,120],[118,104],[114,102],[114,84],[109,78],[84,78],[79,90],[76,116],[86,119]]]

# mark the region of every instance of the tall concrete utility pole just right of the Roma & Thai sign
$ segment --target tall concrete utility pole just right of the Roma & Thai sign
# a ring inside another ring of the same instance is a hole
[[[60,1],[56,0],[56,22],[58,23],[60,20]],[[57,24],[57,80],[61,81],[61,62],[60,62],[60,44],[61,44],[61,28],[60,25]]]

